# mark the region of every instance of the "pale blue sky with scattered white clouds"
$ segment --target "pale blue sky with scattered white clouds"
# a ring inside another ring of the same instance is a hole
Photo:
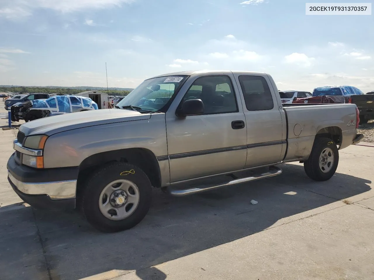
[[[0,0],[0,84],[106,87],[106,62],[109,87],[209,69],[374,90],[374,16],[305,13],[300,0]]]

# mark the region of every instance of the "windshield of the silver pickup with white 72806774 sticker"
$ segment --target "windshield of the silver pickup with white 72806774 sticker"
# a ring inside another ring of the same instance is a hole
[[[116,107],[123,108],[131,105],[136,110],[145,112],[159,111],[174,95],[177,88],[186,80],[187,76],[167,76],[145,80]],[[132,109],[125,108],[125,109]]]

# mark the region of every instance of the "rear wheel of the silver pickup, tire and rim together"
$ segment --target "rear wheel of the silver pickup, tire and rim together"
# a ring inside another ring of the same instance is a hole
[[[336,144],[329,138],[316,138],[309,159],[304,162],[304,170],[315,181],[327,181],[334,174],[339,163]]]

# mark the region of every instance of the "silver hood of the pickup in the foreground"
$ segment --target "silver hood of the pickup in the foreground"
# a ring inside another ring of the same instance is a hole
[[[149,119],[150,116],[150,114],[122,109],[92,110],[36,119],[22,124],[19,131],[26,136],[35,134],[50,136],[62,131],[94,125]]]

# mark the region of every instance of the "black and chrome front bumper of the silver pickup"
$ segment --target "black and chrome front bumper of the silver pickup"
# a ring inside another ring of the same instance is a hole
[[[45,209],[75,208],[78,167],[36,169],[19,165],[15,156],[7,163],[8,181],[24,202]]]

